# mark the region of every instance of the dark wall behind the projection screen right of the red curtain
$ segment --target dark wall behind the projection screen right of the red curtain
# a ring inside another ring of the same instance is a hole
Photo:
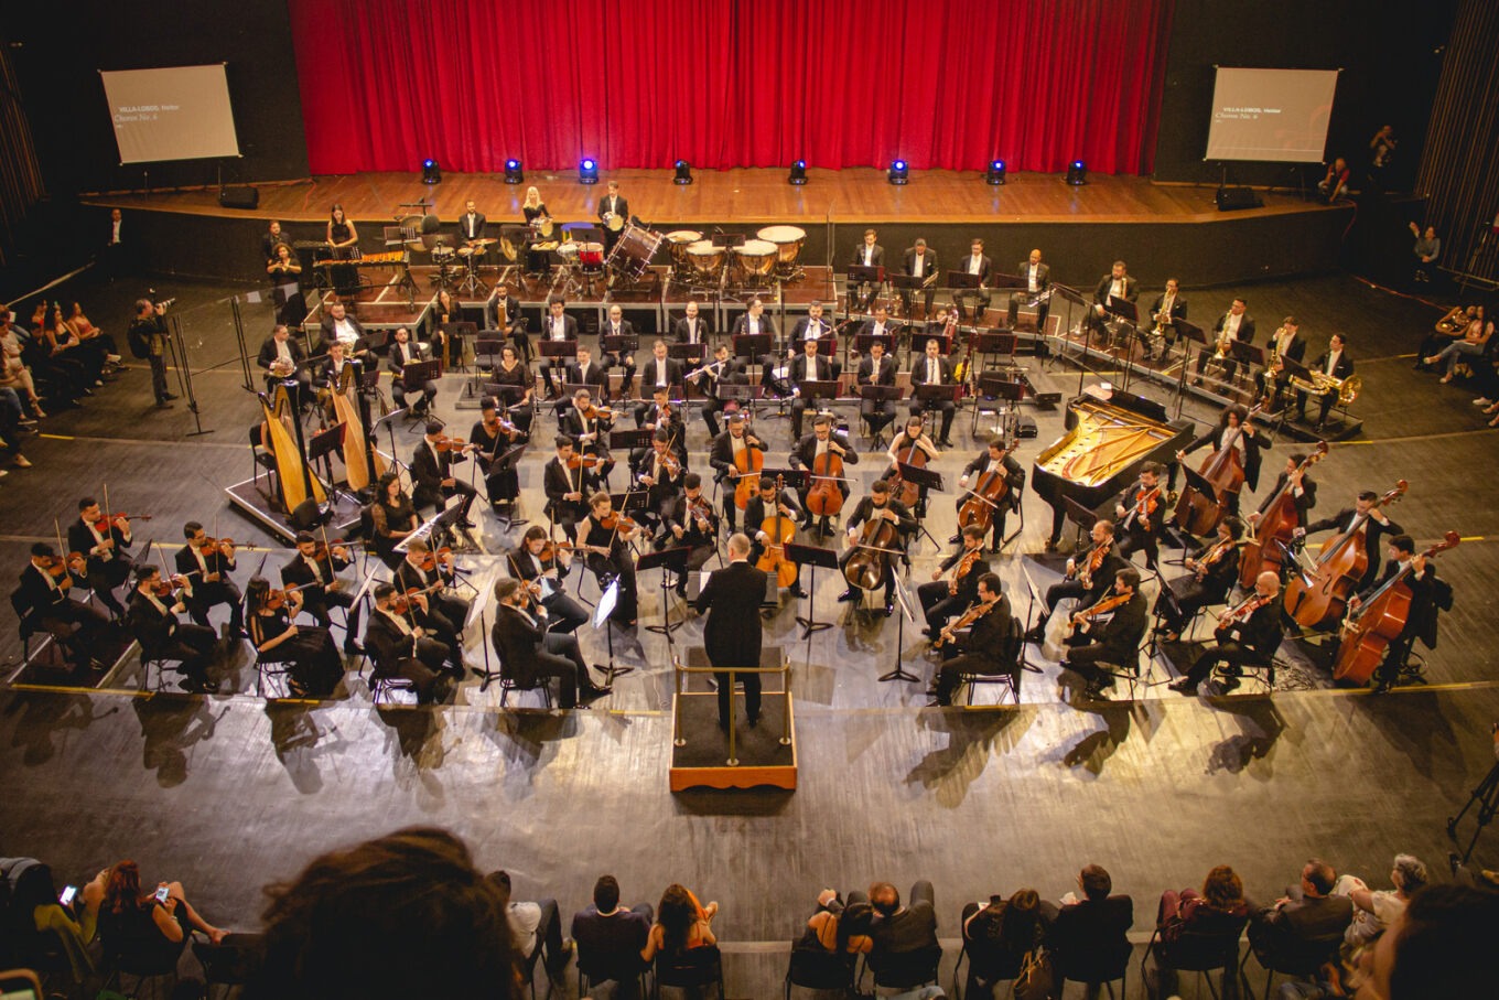
[[[1328,159],[1361,166],[1369,139],[1396,126],[1391,168],[1409,189],[1426,136],[1456,0],[1177,0],[1166,52],[1166,88],[1156,138],[1156,180],[1217,183],[1202,160],[1213,108],[1213,67],[1339,69]],[[1306,166],[1307,183],[1322,178]],[[1228,163],[1231,184],[1295,187],[1288,163]]]

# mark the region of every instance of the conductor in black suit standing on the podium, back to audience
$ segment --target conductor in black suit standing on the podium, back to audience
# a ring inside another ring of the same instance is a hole
[[[729,565],[711,573],[697,595],[697,613],[708,613],[703,625],[703,648],[708,663],[715,667],[760,666],[760,601],[764,600],[766,574],[750,559],[750,538],[735,534],[729,538]],[[715,673],[718,679],[718,729],[729,732],[729,714],[738,676],[745,685],[745,717],[750,727],[760,724],[760,675]]]

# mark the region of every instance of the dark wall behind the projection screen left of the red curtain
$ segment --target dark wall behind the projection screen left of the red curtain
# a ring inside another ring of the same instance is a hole
[[[151,187],[307,175],[285,0],[40,0],[6,9],[21,94],[54,198],[141,187],[120,166],[100,69],[228,63],[241,159],[150,163]]]

